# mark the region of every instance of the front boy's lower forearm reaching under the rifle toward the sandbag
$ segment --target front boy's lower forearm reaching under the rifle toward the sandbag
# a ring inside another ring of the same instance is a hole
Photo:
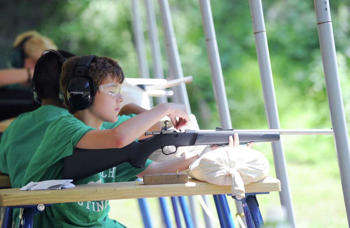
[[[152,162],[144,171],[139,173],[138,177],[143,177],[145,174],[155,173],[174,173],[176,170],[180,172],[187,170],[192,162],[198,159],[197,154],[182,155],[181,157],[170,159],[164,162]]]

